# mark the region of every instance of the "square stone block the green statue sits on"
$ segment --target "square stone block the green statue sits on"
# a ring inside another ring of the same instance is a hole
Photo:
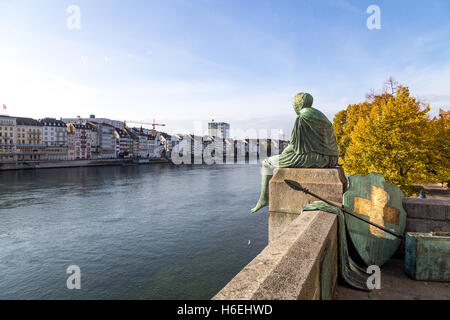
[[[292,190],[284,180],[300,183],[311,192],[326,200],[342,203],[347,189],[347,178],[342,168],[292,169],[279,168],[270,180],[269,211],[300,214],[303,207],[317,201],[314,197]]]

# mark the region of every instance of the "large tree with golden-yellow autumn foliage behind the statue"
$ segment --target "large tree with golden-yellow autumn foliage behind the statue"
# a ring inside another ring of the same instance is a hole
[[[395,89],[348,106],[333,126],[347,174],[380,173],[408,196],[413,184],[449,180],[449,130],[407,87]]]

